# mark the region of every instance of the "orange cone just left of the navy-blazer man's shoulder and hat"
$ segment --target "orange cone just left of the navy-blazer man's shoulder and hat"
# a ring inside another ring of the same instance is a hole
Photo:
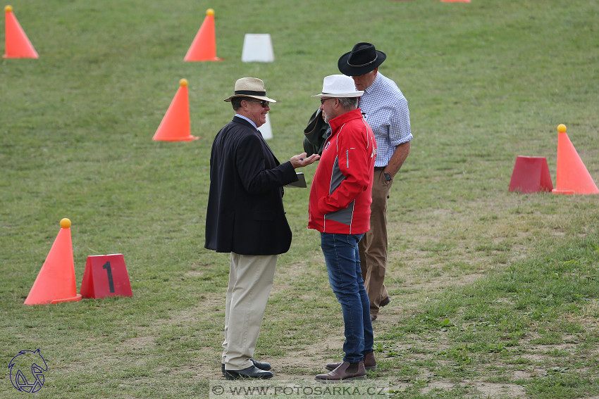
[[[152,140],[156,141],[192,141],[199,137],[190,134],[190,99],[187,93],[187,80],[179,81],[179,89],[171,106],[166,110],[164,118]]]

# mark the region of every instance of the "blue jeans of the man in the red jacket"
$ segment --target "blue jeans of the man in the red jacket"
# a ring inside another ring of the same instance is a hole
[[[321,233],[328,281],[343,312],[344,362],[357,363],[372,352],[370,301],[364,289],[358,243],[364,234]]]

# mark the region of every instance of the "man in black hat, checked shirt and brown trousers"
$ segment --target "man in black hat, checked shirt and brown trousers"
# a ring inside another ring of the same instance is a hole
[[[385,287],[387,201],[393,177],[406,160],[412,140],[407,100],[393,80],[378,72],[385,58],[385,53],[376,50],[373,44],[360,42],[337,63],[340,72],[352,77],[356,89],[364,91],[359,107],[376,138],[370,231],[359,243],[362,278],[370,300],[372,321],[378,317],[379,308],[390,302]]]

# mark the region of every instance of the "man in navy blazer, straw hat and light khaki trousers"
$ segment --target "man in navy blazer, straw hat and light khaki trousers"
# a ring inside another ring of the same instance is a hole
[[[230,253],[222,372],[226,379],[267,379],[273,376],[271,365],[253,356],[278,255],[291,245],[283,186],[297,181],[297,167],[320,157],[302,153],[279,163],[258,130],[271,109],[268,103],[276,102],[266,96],[261,80],[242,77],[225,101],[235,116],[212,144],[204,244]]]

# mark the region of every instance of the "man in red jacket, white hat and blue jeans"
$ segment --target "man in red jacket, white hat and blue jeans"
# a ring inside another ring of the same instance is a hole
[[[345,356],[329,363],[318,381],[366,378],[366,367],[376,368],[372,353],[370,303],[364,289],[358,243],[370,228],[371,191],[376,140],[362,118],[352,78],[324,78],[320,109],[331,125],[310,189],[310,229],[321,232],[328,281],[341,304],[345,324]],[[315,96],[315,97],[316,97]]]

